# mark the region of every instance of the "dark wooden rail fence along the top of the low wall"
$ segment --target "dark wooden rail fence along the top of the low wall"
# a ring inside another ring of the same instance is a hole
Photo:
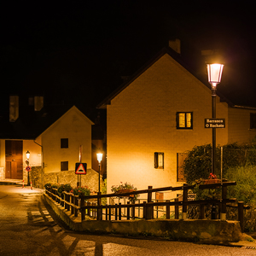
[[[175,219],[188,217],[188,207],[189,206],[199,206],[200,207],[200,219],[205,218],[205,207],[207,205],[212,206],[211,218],[216,219],[217,217],[225,220],[226,219],[226,209],[227,207],[236,207],[238,210],[238,220],[241,224],[241,231],[244,230],[244,209],[248,208],[244,206],[243,202],[238,202],[236,206],[236,199],[227,199],[227,187],[236,185],[236,182],[219,182],[211,184],[201,184],[199,189],[216,189],[221,188],[221,198],[214,200],[201,200],[201,201],[189,201],[189,189],[193,189],[194,186],[190,186],[186,183],[179,187],[164,187],[159,189],[153,189],[152,186],[148,186],[148,189],[137,190],[127,193],[114,193],[108,195],[102,195],[97,193],[97,195],[73,195],[67,192],[63,192],[58,195],[57,189],[45,189],[45,193],[49,195],[54,201],[60,203],[61,207],[65,207],[67,211],[75,216],[79,216],[81,213],[81,220],[85,219],[85,215],[90,218],[96,218],[97,220],[122,220],[137,218],[136,209],[142,209],[144,219],[154,218],[154,208],[155,207],[165,207],[166,209],[166,219],[171,218],[170,207],[174,207],[173,217]],[[180,199],[175,198],[172,201],[152,201],[152,193],[163,192],[163,191],[178,191],[183,190],[183,195]],[[147,200],[143,203],[131,203],[130,201],[125,202],[125,204],[119,203],[114,205],[102,205],[102,198],[120,198],[131,195],[147,195]],[[233,203],[230,205],[230,203]],[[122,213],[122,209],[125,209],[125,216]],[[181,211],[181,212],[180,212]]]

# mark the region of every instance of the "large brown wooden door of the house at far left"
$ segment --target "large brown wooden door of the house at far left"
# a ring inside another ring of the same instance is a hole
[[[22,149],[22,141],[5,141],[5,178],[23,178]]]

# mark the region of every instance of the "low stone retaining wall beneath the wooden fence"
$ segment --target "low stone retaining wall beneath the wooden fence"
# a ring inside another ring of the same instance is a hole
[[[123,234],[128,236],[157,236],[178,241],[201,241],[207,243],[228,243],[239,241],[242,233],[238,221],[223,220],[84,220],[75,218],[70,211],[60,207],[48,195],[45,200],[55,213],[72,229],[101,234]]]

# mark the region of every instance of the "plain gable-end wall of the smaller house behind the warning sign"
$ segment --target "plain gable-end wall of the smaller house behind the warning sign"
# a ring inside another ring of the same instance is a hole
[[[91,168],[91,125],[78,108],[71,108],[39,137],[44,151],[44,172],[61,172],[61,161],[68,161],[68,170],[79,162],[79,146],[83,146],[82,162]],[[68,148],[61,148],[61,138],[68,138]]]

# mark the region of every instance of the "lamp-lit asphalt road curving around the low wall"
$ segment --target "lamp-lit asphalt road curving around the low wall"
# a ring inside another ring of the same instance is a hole
[[[256,255],[256,249],[201,245],[68,230],[42,198],[43,190],[0,185],[0,255]]]

